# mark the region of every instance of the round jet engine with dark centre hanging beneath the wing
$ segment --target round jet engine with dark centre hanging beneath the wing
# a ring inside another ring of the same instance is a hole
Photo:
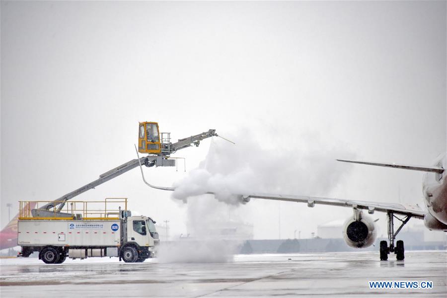
[[[359,216],[350,218],[345,222],[343,237],[346,244],[351,247],[368,247],[374,243],[376,230],[371,218],[359,213]]]

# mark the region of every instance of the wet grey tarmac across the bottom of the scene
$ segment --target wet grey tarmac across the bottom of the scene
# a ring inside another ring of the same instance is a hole
[[[235,255],[227,263],[127,264],[117,258],[0,260],[9,297],[447,297],[447,252],[407,251]],[[432,289],[370,289],[369,281],[431,281]]]

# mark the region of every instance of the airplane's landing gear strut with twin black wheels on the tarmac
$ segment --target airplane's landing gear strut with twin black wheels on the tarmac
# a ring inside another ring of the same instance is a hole
[[[396,247],[394,247],[394,240],[396,239],[397,234],[400,232],[402,227],[408,223],[411,218],[411,215],[405,216],[403,219],[396,217],[392,211],[388,211],[386,214],[388,217],[388,240],[389,247],[387,247],[386,241],[380,241],[380,260],[386,261],[388,260],[388,254],[390,252],[394,252],[396,254],[396,259],[398,261],[402,261],[405,259],[405,249],[402,240],[398,240],[396,242]],[[396,232],[394,232],[394,219],[397,219],[402,222]]]

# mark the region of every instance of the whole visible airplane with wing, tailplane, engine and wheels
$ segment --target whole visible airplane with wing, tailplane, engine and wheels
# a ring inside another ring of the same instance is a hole
[[[137,150],[138,155],[138,150]],[[280,194],[237,194],[239,200],[246,204],[251,198],[267,199],[278,201],[289,201],[306,203],[308,207],[314,207],[315,204],[351,207],[353,216],[348,218],[343,229],[343,237],[346,243],[351,247],[368,247],[371,246],[376,238],[376,229],[374,222],[370,217],[364,214],[363,210],[368,210],[368,214],[374,211],[385,212],[387,214],[387,241],[380,241],[380,260],[388,260],[388,254],[394,252],[397,260],[405,258],[405,248],[402,240],[398,240],[394,246],[396,236],[402,227],[408,223],[411,218],[424,220],[424,224],[430,230],[447,231],[447,168],[446,152],[440,154],[436,159],[434,166],[415,166],[395,163],[377,163],[367,161],[355,161],[337,159],[338,161],[361,163],[385,167],[394,167],[400,169],[417,170],[426,172],[423,178],[423,193],[425,197],[425,205],[427,211],[423,211],[418,205],[405,205],[394,203],[377,203],[357,200],[343,200],[335,198],[322,198],[311,196],[295,196]],[[174,191],[173,187],[161,187],[149,184],[144,176],[143,168],[140,163],[143,181],[150,187],[160,190]],[[204,194],[215,194],[213,192],[205,192]],[[394,219],[401,222],[400,226],[394,231]]]

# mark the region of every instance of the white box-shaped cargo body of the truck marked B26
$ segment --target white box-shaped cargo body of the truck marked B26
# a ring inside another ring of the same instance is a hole
[[[18,245],[120,246],[119,220],[18,221]]]

